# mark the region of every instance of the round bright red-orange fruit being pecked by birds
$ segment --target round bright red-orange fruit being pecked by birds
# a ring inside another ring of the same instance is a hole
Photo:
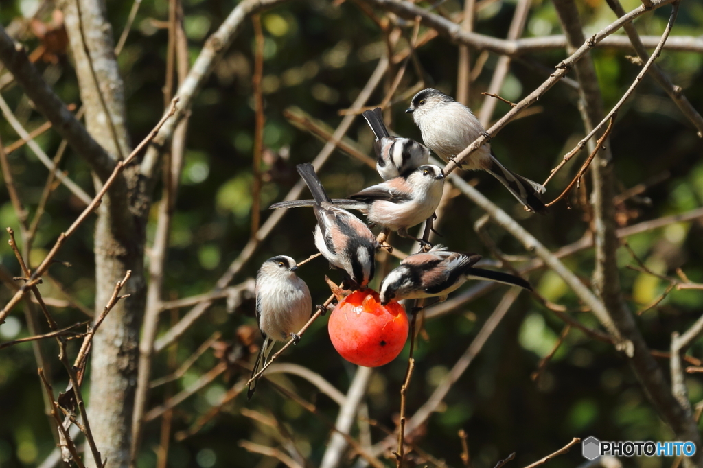
[[[328,332],[342,358],[376,368],[394,360],[408,340],[408,316],[392,301],[382,306],[378,292],[355,291],[330,314]]]

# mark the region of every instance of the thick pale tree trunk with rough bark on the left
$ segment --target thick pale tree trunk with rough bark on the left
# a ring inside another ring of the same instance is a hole
[[[61,8],[86,108],[86,127],[113,160],[129,154],[124,90],[117,69],[112,27],[101,0],[63,0]],[[86,51],[88,54],[86,54]],[[138,337],[145,300],[144,223],[139,200],[130,193],[136,171],[127,168],[124,183],[110,190],[98,209],[95,230],[96,312],[107,304],[124,272],[131,280],[93,339],[89,420],[98,450],[110,467],[127,467],[138,362]],[[100,185],[95,178],[96,186]],[[130,203],[129,200],[133,200]],[[136,201],[136,203],[135,203]],[[95,466],[86,460],[86,466]]]

